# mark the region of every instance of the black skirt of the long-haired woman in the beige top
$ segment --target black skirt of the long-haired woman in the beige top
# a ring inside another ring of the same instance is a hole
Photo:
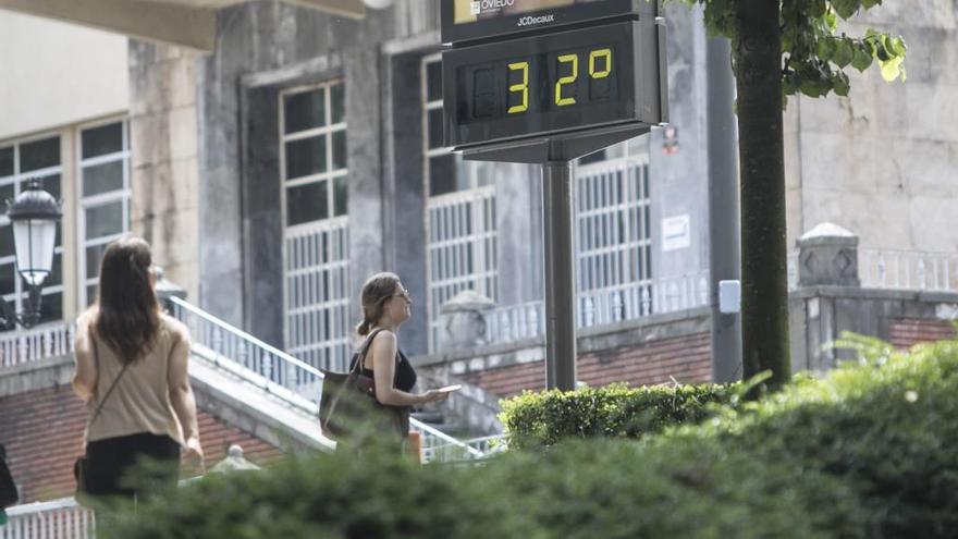
[[[143,499],[176,486],[180,443],[143,432],[87,443],[87,485],[95,497]]]

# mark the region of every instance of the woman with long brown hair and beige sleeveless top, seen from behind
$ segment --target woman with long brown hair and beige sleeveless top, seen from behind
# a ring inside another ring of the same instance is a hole
[[[181,448],[202,458],[186,366],[189,333],[160,309],[149,244],[126,236],[100,264],[99,297],[76,323],[73,389],[86,403],[86,486],[91,495],[148,493],[121,479],[142,458],[175,485]],[[159,477],[156,476],[159,474]]]

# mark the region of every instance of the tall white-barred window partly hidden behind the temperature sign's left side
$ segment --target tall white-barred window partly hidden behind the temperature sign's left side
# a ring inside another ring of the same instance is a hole
[[[423,58],[422,151],[426,192],[429,346],[438,350],[440,307],[464,290],[498,299],[495,186],[488,163],[443,146],[442,63]]]

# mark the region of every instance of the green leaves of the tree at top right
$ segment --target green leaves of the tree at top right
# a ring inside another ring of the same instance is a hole
[[[736,0],[681,1],[702,4],[710,37],[727,37],[733,48],[738,47]],[[901,36],[869,28],[864,36],[853,37],[839,27],[842,21],[881,3],[882,0],[782,0],[783,102],[796,94],[825,97],[834,91],[847,96],[848,68],[864,72],[875,62],[885,81],[905,81],[902,62],[908,47]]]

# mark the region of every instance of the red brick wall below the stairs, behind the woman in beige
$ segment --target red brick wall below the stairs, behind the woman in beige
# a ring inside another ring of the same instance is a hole
[[[86,414],[69,387],[0,397],[0,443],[21,488],[21,503],[71,495],[73,463],[81,454]],[[207,466],[225,456],[232,443],[247,460],[263,464],[282,455],[266,442],[199,412],[200,442]]]

